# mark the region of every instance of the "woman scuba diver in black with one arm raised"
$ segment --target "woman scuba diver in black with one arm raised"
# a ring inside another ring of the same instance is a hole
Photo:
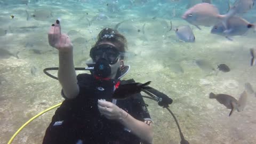
[[[126,38],[117,30],[102,29],[90,51],[94,69],[91,74],[79,75],[74,68],[73,45],[61,33],[59,20],[51,26],[48,38],[59,50],[58,79],[65,100],[55,111],[43,143],[152,143],[152,121],[142,95],[113,98],[119,85],[134,83],[133,79],[121,81],[130,68],[124,65],[122,54],[127,49]]]

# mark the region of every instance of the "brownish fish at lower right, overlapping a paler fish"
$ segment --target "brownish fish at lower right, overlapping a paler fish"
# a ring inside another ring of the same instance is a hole
[[[229,116],[233,114],[234,110],[238,107],[238,101],[228,94],[209,94],[210,99],[216,99],[218,102],[226,106],[227,109],[231,109]]]

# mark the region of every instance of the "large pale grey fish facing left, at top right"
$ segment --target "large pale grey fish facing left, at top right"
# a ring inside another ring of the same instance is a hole
[[[188,9],[183,14],[182,18],[191,25],[201,29],[199,26],[210,27],[220,21],[225,23],[226,19],[229,18],[229,15],[220,15],[218,8],[212,4],[200,3]]]

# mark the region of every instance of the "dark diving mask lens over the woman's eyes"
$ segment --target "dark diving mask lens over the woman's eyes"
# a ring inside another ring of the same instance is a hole
[[[119,52],[116,47],[112,45],[102,44],[92,49],[91,57],[94,61],[98,61],[100,58],[105,58],[110,65],[112,65],[118,60]]]

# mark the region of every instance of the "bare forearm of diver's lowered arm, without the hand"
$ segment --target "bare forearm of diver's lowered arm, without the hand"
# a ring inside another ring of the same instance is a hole
[[[123,118],[119,120],[127,129],[141,138],[147,143],[152,143],[153,141],[153,129],[151,121],[141,122],[138,119],[135,119],[125,110],[123,110]],[[148,123],[146,123],[148,122]]]

